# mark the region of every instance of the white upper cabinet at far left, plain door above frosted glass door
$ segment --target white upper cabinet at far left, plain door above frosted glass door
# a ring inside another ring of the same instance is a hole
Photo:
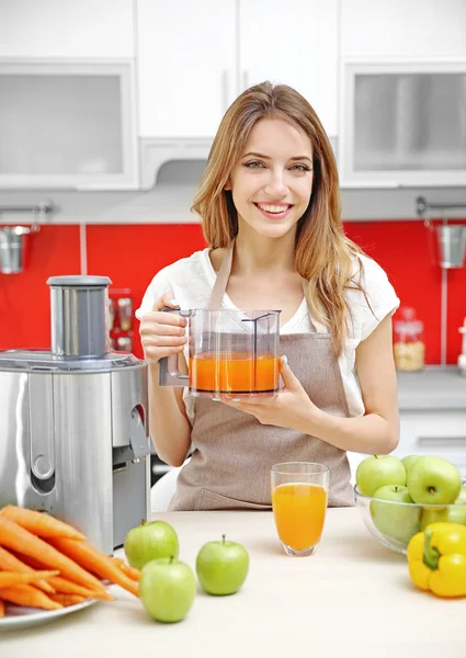
[[[0,3],[0,189],[133,190],[132,0]]]

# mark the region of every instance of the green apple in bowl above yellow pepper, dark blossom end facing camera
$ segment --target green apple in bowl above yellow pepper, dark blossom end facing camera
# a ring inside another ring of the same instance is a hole
[[[462,488],[462,476],[454,464],[442,457],[419,457],[409,472],[407,487],[414,502],[450,504]]]

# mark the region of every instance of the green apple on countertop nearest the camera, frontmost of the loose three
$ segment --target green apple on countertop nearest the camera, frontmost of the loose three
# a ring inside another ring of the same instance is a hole
[[[197,591],[192,568],[174,557],[152,559],[140,571],[139,597],[147,613],[158,622],[181,622]]]

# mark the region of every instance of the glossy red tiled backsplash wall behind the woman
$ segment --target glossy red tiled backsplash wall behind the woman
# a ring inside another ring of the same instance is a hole
[[[404,306],[424,322],[427,362],[440,362],[441,269],[422,222],[345,224],[348,236],[387,272]],[[203,249],[198,225],[93,225],[87,228],[88,272],[130,287],[135,307],[154,274]],[[49,347],[49,293],[46,279],[79,272],[79,228],[44,226],[32,236],[25,271],[0,274],[0,349]],[[448,272],[447,362],[461,351],[457,328],[466,316],[466,266]],[[135,324],[134,353],[141,355]]]

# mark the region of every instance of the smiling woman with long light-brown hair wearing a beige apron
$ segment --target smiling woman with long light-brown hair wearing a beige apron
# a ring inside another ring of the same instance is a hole
[[[329,506],[353,504],[346,451],[398,444],[399,300],[343,234],[336,161],[307,101],[270,82],[245,91],[220,123],[193,208],[209,247],[161,270],[137,314],[157,453],[179,466],[193,449],[170,509],[270,509],[270,468],[294,461],[328,465]],[[185,320],[161,309],[220,305],[281,309],[275,398],[224,402],[158,385],[159,360],[185,356],[186,345]]]

